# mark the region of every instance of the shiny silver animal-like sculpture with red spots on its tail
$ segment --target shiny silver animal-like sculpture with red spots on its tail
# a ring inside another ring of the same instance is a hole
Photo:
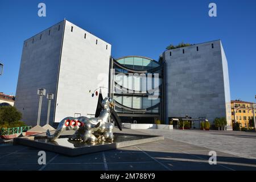
[[[55,140],[60,137],[60,134],[66,130],[76,130],[75,134],[71,135],[71,140],[82,140],[84,142],[101,142],[109,140],[113,142],[113,126],[109,122],[110,115],[114,112],[112,98],[106,97],[101,102],[100,115],[97,118],[88,117],[67,117],[64,118],[58,125],[54,134],[50,134],[47,130],[47,139]],[[118,125],[119,126],[119,125]],[[119,128],[120,129],[120,128]]]

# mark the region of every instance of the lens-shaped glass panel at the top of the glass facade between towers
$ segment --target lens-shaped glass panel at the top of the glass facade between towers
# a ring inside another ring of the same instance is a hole
[[[159,67],[159,63],[148,57],[142,56],[125,56],[116,60],[118,63],[131,69],[147,70],[155,67]]]

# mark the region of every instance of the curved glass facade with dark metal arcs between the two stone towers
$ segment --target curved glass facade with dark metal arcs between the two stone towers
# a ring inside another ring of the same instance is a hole
[[[142,56],[126,56],[117,60],[112,58],[112,65],[112,97],[115,100],[115,110],[121,118],[135,118],[138,123],[144,120],[139,118],[160,119],[162,65]],[[147,121],[150,122],[154,122],[154,119]]]

